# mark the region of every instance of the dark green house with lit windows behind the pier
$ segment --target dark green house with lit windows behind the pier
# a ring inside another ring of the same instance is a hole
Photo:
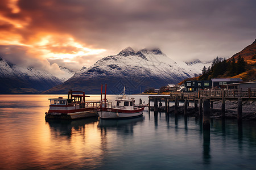
[[[184,92],[193,92],[212,88],[212,80],[191,80],[184,83]]]

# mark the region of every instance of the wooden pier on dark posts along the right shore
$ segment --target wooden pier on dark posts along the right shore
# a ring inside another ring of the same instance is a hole
[[[154,101],[154,112],[158,112],[158,107],[162,106],[161,101],[165,103],[165,111],[170,111],[170,101],[174,102],[174,113],[178,114],[179,101],[184,101],[184,116],[187,116],[189,101],[194,102],[195,110],[198,111],[199,117],[204,118],[204,127],[210,127],[208,124],[210,108],[213,108],[213,101],[221,100],[221,118],[225,118],[225,101],[238,101],[237,119],[238,123],[242,122],[242,101],[256,101],[256,88],[248,88],[246,90],[200,90],[198,92],[176,92],[170,95],[152,95],[148,96],[148,107],[150,108],[150,101]],[[160,101],[158,106],[158,101]]]

